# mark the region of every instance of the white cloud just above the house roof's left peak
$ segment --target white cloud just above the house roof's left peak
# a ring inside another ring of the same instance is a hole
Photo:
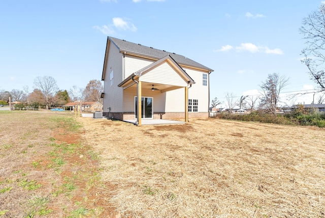
[[[130,30],[132,32],[137,31],[137,27],[127,18],[120,18],[114,17],[113,24],[103,25],[103,26],[93,26],[92,28],[100,30],[104,35],[115,35],[116,31],[115,28],[118,30]]]

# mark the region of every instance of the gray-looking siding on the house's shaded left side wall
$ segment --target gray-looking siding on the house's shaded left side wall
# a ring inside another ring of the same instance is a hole
[[[123,88],[117,85],[122,82],[123,75],[123,55],[118,48],[111,42],[108,54],[106,77],[104,81],[105,96],[103,99],[103,110],[108,112],[122,112],[123,111]],[[114,71],[114,84],[110,84],[110,73]]]

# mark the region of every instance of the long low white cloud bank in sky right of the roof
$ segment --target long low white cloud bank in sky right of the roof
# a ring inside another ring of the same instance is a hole
[[[220,49],[217,50],[213,50],[213,52],[218,52],[218,51],[230,51],[232,50],[234,47],[232,45],[224,45],[221,46]],[[251,53],[266,53],[266,54],[283,54],[283,51],[279,48],[274,48],[274,49],[270,49],[267,46],[257,46],[254,45],[252,43],[241,43],[240,46],[237,46],[235,48],[235,50],[237,52],[241,52],[241,51],[249,51]]]

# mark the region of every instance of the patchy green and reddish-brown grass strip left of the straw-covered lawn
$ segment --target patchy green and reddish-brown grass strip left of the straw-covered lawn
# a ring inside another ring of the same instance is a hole
[[[0,111],[0,126],[0,217],[115,218],[72,114]]]

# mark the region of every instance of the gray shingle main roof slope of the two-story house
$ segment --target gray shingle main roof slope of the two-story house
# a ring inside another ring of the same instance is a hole
[[[175,54],[173,52],[168,52],[168,51],[164,51],[164,50],[159,50],[159,49],[155,49],[152,47],[147,47],[147,46],[143,46],[140,44],[136,44],[136,43],[132,43],[132,42],[127,42],[125,40],[120,40],[120,39],[116,39],[113,37],[108,37],[118,48],[120,51],[125,51],[125,52],[129,52],[129,53],[134,53],[134,54],[140,54],[143,56],[147,56],[147,57],[153,57],[153,58],[163,58],[166,55],[170,55],[179,65],[187,65],[190,67],[196,67],[196,68],[200,68],[203,70],[208,70],[208,71],[213,71],[212,69],[201,65],[199,63],[197,63],[194,60],[191,60],[183,55],[179,55],[179,54]]]

